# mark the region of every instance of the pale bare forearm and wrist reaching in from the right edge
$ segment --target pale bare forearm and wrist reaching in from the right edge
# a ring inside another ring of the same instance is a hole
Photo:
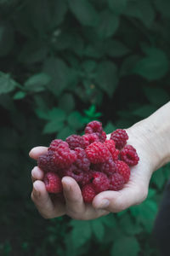
[[[154,171],[170,161],[170,102],[128,131],[138,143],[145,143]]]

